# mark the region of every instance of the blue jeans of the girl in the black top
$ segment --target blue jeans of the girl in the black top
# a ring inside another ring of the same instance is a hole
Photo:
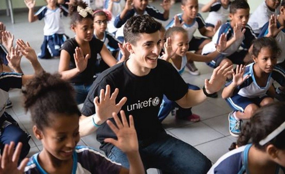
[[[72,86],[75,90],[75,100],[77,105],[83,103],[87,97],[88,92],[90,91],[92,83],[90,84],[74,84]]]

